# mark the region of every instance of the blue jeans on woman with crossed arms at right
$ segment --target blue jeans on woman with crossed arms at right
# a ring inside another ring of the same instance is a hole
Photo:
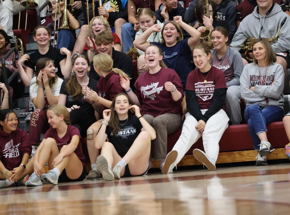
[[[254,143],[254,149],[260,150],[261,143],[258,134],[267,132],[267,125],[271,122],[282,121],[284,111],[278,106],[268,106],[262,109],[263,106],[249,105],[246,107],[244,117],[248,123],[251,138]]]

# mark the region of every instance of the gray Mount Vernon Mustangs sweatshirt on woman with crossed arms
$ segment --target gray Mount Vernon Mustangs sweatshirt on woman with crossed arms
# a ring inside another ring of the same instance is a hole
[[[264,80],[266,73],[266,67],[260,67],[261,79]],[[275,80],[271,86],[272,81]],[[244,67],[240,78],[240,90],[241,96],[247,101],[248,105],[259,105],[263,106],[265,99],[269,99],[271,106],[279,106],[283,109],[283,87],[284,87],[284,71],[283,67],[278,64],[270,64],[265,83],[263,86],[260,85],[260,76],[258,71],[258,64],[247,64]],[[255,87],[254,92],[250,90],[250,87]]]

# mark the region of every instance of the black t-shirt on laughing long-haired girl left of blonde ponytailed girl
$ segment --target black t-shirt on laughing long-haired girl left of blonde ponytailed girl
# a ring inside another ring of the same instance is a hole
[[[91,116],[94,116],[94,108],[93,106],[88,103],[86,100],[84,100],[84,98],[82,98],[81,100],[75,100],[73,99],[72,95],[68,95],[68,93],[66,92],[66,81],[68,79],[65,79],[64,82],[61,85],[59,94],[64,94],[67,95],[66,96],[66,107],[70,108],[73,105],[77,105],[80,106],[80,108],[82,110],[84,110],[86,113],[88,113]],[[89,83],[88,83],[88,87],[90,87],[93,91],[97,92],[97,81],[93,80],[92,78],[89,79]]]

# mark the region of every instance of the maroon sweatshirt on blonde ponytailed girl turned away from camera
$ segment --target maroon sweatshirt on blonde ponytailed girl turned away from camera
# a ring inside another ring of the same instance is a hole
[[[120,84],[120,76],[111,71],[106,77],[101,77],[97,83],[97,88],[99,92],[99,96],[107,99],[109,101],[113,101],[113,98],[118,93],[124,93],[123,88]],[[109,109],[109,107],[105,107],[102,105],[102,110]]]

